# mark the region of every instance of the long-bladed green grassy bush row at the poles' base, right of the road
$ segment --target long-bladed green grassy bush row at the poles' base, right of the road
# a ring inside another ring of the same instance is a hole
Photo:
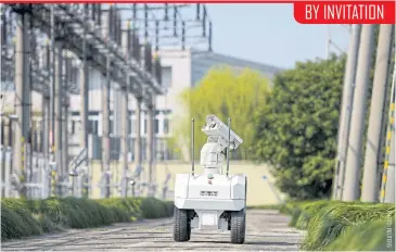
[[[290,202],[290,226],[307,230],[306,251],[395,251],[395,205],[360,202]]]

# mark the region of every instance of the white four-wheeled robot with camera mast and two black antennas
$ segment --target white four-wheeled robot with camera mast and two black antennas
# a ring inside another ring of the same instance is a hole
[[[230,231],[231,242],[245,241],[245,175],[229,175],[230,150],[242,139],[215,115],[202,128],[208,138],[201,150],[203,174],[194,174],[194,119],[192,119],[192,173],[177,174],[175,181],[174,240],[188,241],[191,229]],[[227,173],[222,174],[227,156]]]

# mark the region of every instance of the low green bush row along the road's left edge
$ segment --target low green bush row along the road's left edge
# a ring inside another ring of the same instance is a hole
[[[1,199],[1,240],[65,228],[90,228],[138,218],[168,217],[173,215],[173,202],[154,198]]]

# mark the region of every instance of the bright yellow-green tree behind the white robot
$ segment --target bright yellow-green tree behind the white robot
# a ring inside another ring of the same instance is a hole
[[[238,158],[250,156],[247,148],[253,142],[255,127],[253,116],[258,108],[266,105],[269,97],[269,81],[259,72],[248,68],[240,73],[229,67],[217,67],[209,73],[193,89],[188,89],[181,94],[183,108],[190,111],[183,118],[176,118],[175,130],[186,143],[190,144],[191,118],[195,118],[195,156],[200,156],[201,147],[207,137],[200,131],[208,114],[215,114],[223,123],[231,117],[231,127],[242,137],[244,143],[238,152]],[[186,140],[188,139],[188,140]],[[169,144],[177,146],[171,139]],[[237,154],[237,153],[235,153]]]

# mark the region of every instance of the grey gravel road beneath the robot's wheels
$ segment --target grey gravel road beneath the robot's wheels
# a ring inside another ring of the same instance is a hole
[[[173,219],[37,236],[2,242],[2,251],[297,251],[303,232],[288,227],[289,217],[277,211],[248,210],[244,244],[231,244],[230,235],[192,230],[191,240],[175,242]]]

